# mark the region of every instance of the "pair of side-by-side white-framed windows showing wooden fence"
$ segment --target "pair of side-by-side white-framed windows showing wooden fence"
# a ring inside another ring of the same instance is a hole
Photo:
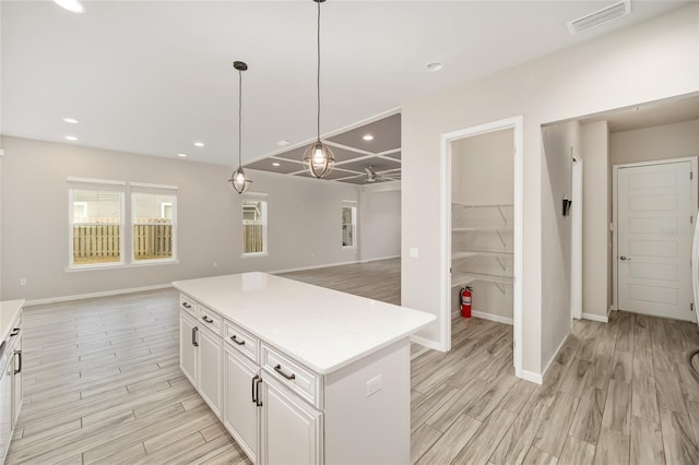
[[[68,186],[70,269],[176,259],[177,188],[81,178]]]

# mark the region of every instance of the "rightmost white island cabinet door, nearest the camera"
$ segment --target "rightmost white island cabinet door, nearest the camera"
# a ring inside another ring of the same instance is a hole
[[[272,379],[261,384],[261,400],[262,463],[322,463],[322,414]]]

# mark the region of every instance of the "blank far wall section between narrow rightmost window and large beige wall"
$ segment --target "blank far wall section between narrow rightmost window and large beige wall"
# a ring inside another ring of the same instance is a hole
[[[363,262],[401,254],[401,186],[364,186],[359,194],[359,253]]]

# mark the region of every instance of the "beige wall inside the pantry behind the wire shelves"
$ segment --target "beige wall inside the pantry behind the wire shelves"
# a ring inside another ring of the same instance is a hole
[[[488,132],[452,142],[452,200],[474,205],[512,205],[514,191],[514,131],[512,129]],[[512,228],[512,207],[500,212],[507,218],[503,223],[497,208],[454,207],[452,227],[486,226]],[[505,246],[500,242],[505,240]],[[454,233],[452,253],[460,250],[491,250],[512,252],[512,235],[501,231]],[[505,270],[500,267],[505,265]],[[473,272],[493,275],[512,275],[512,258],[473,257],[465,261],[452,262],[453,272]],[[474,312],[495,317],[498,321],[512,321],[513,289],[511,285],[500,285],[477,281],[473,288],[472,308]],[[452,289],[451,310],[459,311],[459,289]]]

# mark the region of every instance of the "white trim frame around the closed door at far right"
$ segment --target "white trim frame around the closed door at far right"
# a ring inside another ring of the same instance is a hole
[[[692,175],[695,172],[697,172],[697,160],[698,157],[697,156],[687,156],[687,157],[682,157],[682,158],[666,158],[666,159],[653,159],[653,160],[649,160],[649,162],[638,162],[638,163],[624,163],[624,164],[619,164],[619,165],[612,165],[612,309],[611,310],[618,310],[619,309],[619,263],[617,260],[618,257],[618,228],[617,225],[619,224],[619,208],[618,208],[618,175],[619,175],[619,169],[623,168],[637,168],[637,167],[642,167],[642,166],[654,166],[654,165],[670,165],[670,164],[674,164],[674,163],[683,163],[683,162],[689,162],[690,163],[690,170],[692,172]],[[695,216],[694,220],[695,223],[692,224],[692,228],[691,230],[694,231],[694,226],[696,225],[697,222],[697,211],[699,210],[699,191],[697,188],[697,176],[692,176],[691,180],[689,181],[689,190],[690,190],[690,194],[691,194],[691,210],[692,210],[692,214]],[[691,289],[690,289],[691,291]],[[694,294],[691,295],[691,300],[694,301]],[[695,302],[695,309],[696,309],[697,305]],[[695,310],[695,321],[697,320],[697,313]]]

